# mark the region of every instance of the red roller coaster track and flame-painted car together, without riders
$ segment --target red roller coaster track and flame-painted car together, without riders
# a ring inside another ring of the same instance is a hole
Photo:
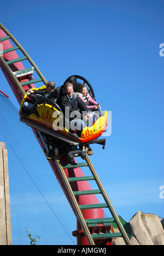
[[[48,154],[49,141],[53,141],[55,155],[49,161],[49,164],[77,217],[77,230],[73,232],[73,235],[77,237],[77,244],[112,245],[114,238],[122,237],[126,245],[131,245],[130,239],[99,180],[95,168],[84,150],[86,145],[93,143],[101,144],[104,148],[106,140],[98,139],[98,137],[106,130],[107,112],[92,125],[92,131],[94,132],[91,132],[88,129],[89,127],[86,127],[80,136],[70,132],[66,127],[64,130],[54,131],[52,124],[55,120],[48,124],[46,118],[42,119],[42,113],[49,113],[47,116],[44,115],[49,117],[49,120],[54,112],[57,112],[61,119],[65,119],[57,104],[57,100],[62,93],[62,86],[59,86],[54,92],[55,101],[40,99],[34,104],[32,112],[25,115],[22,104],[27,97],[27,91],[30,89],[37,90],[34,85],[36,83],[42,83],[38,87],[45,88],[47,81],[30,56],[2,24],[0,24],[0,45],[0,67],[14,92],[17,102],[20,104],[20,120],[32,127],[45,155]],[[26,68],[23,63],[27,65]],[[34,74],[35,78],[33,78]],[[72,82],[75,91],[75,88],[79,85],[77,79],[82,80],[87,85],[91,96],[95,97],[90,83],[79,75],[67,78],[63,85]],[[75,158],[79,156],[84,159],[83,162],[77,162]],[[82,167],[89,167],[91,175],[85,176],[81,170]],[[92,189],[89,181],[95,181],[98,188]],[[99,203],[96,194],[102,194],[104,203]],[[104,217],[103,208],[109,208],[112,214],[111,218]],[[113,223],[116,224],[119,232],[114,233]]]

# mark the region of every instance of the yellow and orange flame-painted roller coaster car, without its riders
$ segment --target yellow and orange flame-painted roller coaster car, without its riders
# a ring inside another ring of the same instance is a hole
[[[81,83],[77,82],[77,78],[83,80],[83,83],[86,84],[87,90],[90,95],[95,99],[95,94],[93,92],[92,86],[90,83],[80,75],[73,75],[69,77],[63,85],[67,82],[73,84],[74,92],[78,91],[79,85]],[[21,107],[20,107],[20,116],[23,118],[29,126],[35,127],[30,124],[38,124],[36,126],[38,130],[40,126],[45,127],[44,132],[50,134],[48,131],[55,131],[62,136],[66,136],[67,138],[71,138],[74,141],[78,142],[78,144],[90,143],[92,140],[97,139],[102,133],[107,129],[108,125],[108,115],[107,111],[105,111],[104,115],[96,120],[96,122],[91,127],[84,127],[83,131],[81,131],[80,136],[78,136],[75,132],[69,131],[67,127],[69,127],[68,120],[64,117],[61,108],[58,106],[57,101],[63,94],[63,85],[61,87],[57,87],[54,91],[55,100],[49,100],[48,98],[40,98],[33,104],[33,108],[31,113],[27,114],[24,112],[22,108],[25,101],[28,101],[27,93],[25,94]],[[39,89],[45,89],[46,86],[42,86]],[[33,88],[33,90],[39,90]],[[22,119],[20,119],[22,121]],[[28,122],[26,122],[28,120]],[[31,123],[29,123],[31,121]],[[42,129],[41,129],[42,130]],[[53,136],[53,135],[52,135]]]

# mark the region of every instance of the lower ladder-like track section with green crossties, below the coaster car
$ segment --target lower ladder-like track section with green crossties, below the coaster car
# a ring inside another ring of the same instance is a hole
[[[89,156],[86,154],[85,162],[83,162],[81,164],[73,164],[73,165],[68,164],[65,166],[61,165],[60,160],[56,156],[55,156],[54,160],[58,167],[58,171],[60,171],[62,180],[65,183],[67,192],[68,192],[71,202],[73,204],[74,210],[77,214],[79,222],[84,230],[84,234],[87,238],[87,241],[89,242],[89,245],[95,245],[95,242],[94,242],[95,239],[116,238],[116,237],[122,237],[124,239],[126,245],[131,245],[131,242],[126,234],[126,231],[125,231],[124,227],[122,226],[120,219],[117,216],[117,214],[114,210],[114,207],[113,207],[112,203],[110,202],[106,191],[103,188],[101,181],[99,180],[99,177],[95,171],[95,168],[93,167],[93,165],[91,163],[91,160],[89,159]],[[65,173],[66,168],[77,168],[77,167],[85,167],[85,166],[90,168],[92,176],[67,178],[66,173]],[[92,181],[92,180],[96,181],[98,189],[86,190],[86,191],[73,191],[71,188],[71,182]],[[99,203],[99,204],[95,204],[95,205],[78,205],[78,202],[77,202],[77,199],[75,196],[90,195],[90,194],[102,194],[105,203]],[[93,208],[109,208],[109,211],[112,214],[113,218],[84,219],[81,210],[93,209]],[[108,225],[112,225],[113,222],[116,223],[120,232],[104,233],[104,234],[102,234],[102,233],[91,234],[91,232],[89,230],[89,227],[91,227],[91,226],[92,227],[97,226],[97,224],[103,224],[103,225],[108,226]]]

